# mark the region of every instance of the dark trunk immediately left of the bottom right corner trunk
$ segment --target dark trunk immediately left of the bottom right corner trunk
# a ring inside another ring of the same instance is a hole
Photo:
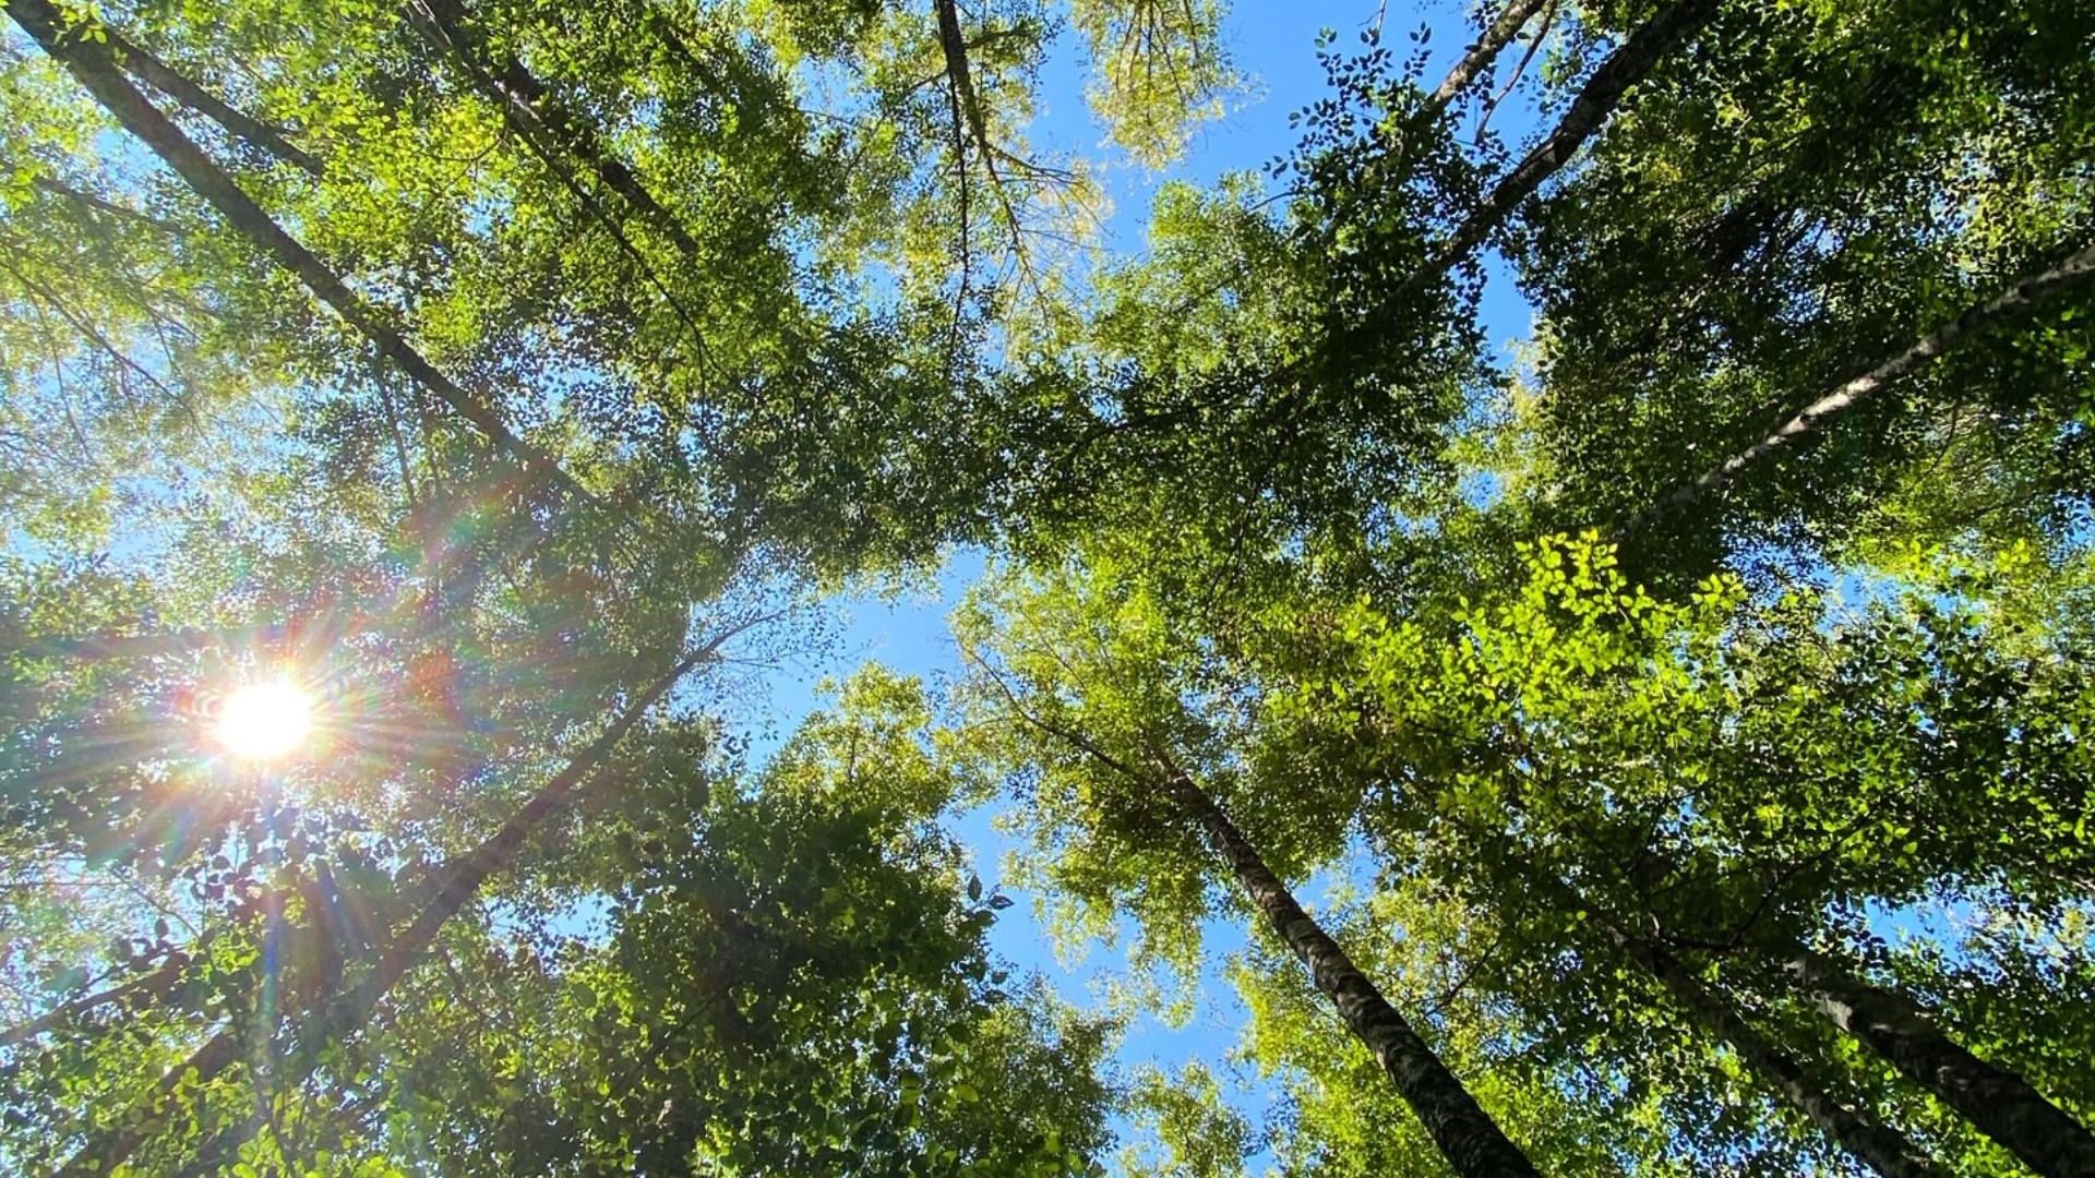
[[[1703,987],[1678,958],[1642,937],[1613,931],[1615,943],[1655,977],[1672,996],[1730,1046],[1749,1071],[1760,1075],[1783,1100],[1804,1113],[1842,1149],[1883,1174],[1883,1178],[1946,1178],[1946,1172],[1921,1153],[1904,1134],[1877,1124],[1867,1113],[1844,1105],[1818,1086],[1795,1059],[1756,1031],[1724,998]]]

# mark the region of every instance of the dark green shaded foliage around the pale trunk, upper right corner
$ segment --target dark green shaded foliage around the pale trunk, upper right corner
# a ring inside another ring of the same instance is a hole
[[[1619,522],[2085,245],[2091,46],[2070,2],[1739,6],[1640,88],[1521,256],[1565,520]],[[2087,298],[1854,411],[1722,516],[1816,543],[2057,535],[2085,509]],[[1668,522],[1666,564],[1705,568],[1682,547],[1714,543],[1703,507]]]

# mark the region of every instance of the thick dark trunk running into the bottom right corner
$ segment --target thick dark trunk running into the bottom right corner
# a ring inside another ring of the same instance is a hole
[[[1804,945],[1789,943],[1777,954],[1789,983],[1835,1027],[1869,1044],[2024,1165],[2045,1178],[2095,1178],[2095,1134],[2020,1075],[1950,1042],[1917,1002]]]

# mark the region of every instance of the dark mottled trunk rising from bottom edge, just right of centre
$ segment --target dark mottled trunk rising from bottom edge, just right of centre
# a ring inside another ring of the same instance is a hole
[[[1345,950],[1332,941],[1316,920],[1303,912],[1295,895],[1280,882],[1259,857],[1244,834],[1221,813],[1207,792],[1182,769],[1163,763],[1165,794],[1186,813],[1215,845],[1236,882],[1251,893],[1259,912],[1274,931],[1295,950],[1295,956],[1309,966],[1316,987],[1339,1008],[1347,1029],[1360,1038],[1383,1063],[1383,1071],[1397,1086],[1404,1100],[1425,1121],[1433,1144],[1448,1157],[1448,1163],[1462,1178],[1483,1176],[1529,1176],[1538,1172],[1527,1155],[1519,1151],[1498,1124],[1477,1107],[1475,1096],[1448,1071],[1448,1065],[1433,1054],[1433,1048],[1418,1038],[1418,1031],[1397,1015],[1374,983],[1355,966]]]

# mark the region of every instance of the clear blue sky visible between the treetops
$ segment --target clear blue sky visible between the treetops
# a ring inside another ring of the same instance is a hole
[[[1247,94],[1232,103],[1232,111],[1203,128],[1188,157],[1167,174],[1146,174],[1127,161],[1108,161],[1104,182],[1112,199],[1112,218],[1104,226],[1102,247],[1108,256],[1129,258],[1146,249],[1146,226],[1150,199],[1165,180],[1182,178],[1196,184],[1213,182],[1228,172],[1261,170],[1284,155],[1295,132],[1288,115],[1314,103],[1324,92],[1324,71],[1316,61],[1316,40],[1320,29],[1339,36],[1339,48],[1358,48],[1358,34],[1376,19],[1374,2],[1240,2],[1226,25],[1226,44],[1238,67],[1249,75]],[[1385,36],[1406,44],[1402,38],[1427,23],[1433,27],[1433,63],[1429,78],[1467,46],[1469,27],[1464,8],[1452,0],[1431,6],[1387,8]],[[1064,36],[1060,52],[1048,63],[1041,78],[1041,117],[1031,128],[1033,138],[1052,151],[1100,157],[1106,153],[1104,132],[1091,122],[1083,103],[1081,46]],[[1494,115],[1494,126],[1519,136],[1534,124],[1527,107],[1508,103]],[[1485,325],[1498,344],[1527,333],[1529,310],[1504,277],[1490,283],[1485,298]],[[936,583],[918,593],[882,599],[876,593],[851,593],[830,602],[838,641],[823,658],[781,667],[756,692],[750,704],[760,717],[760,725],[777,736],[792,732],[794,723],[817,704],[815,683],[823,677],[848,675],[863,662],[882,662],[895,671],[922,675],[934,690],[941,679],[960,671],[957,654],[947,635],[945,618],[983,572],[983,553],[962,551],[936,576]],[[765,748],[773,740],[758,740]],[[995,882],[999,861],[1010,849],[1008,841],[991,826],[989,811],[974,811],[955,824],[957,834],[974,853],[976,868],[985,880]],[[1010,891],[1010,889],[1008,889]],[[1305,899],[1316,899],[1314,889]],[[993,931],[993,947],[1016,962],[1022,970],[1039,970],[1071,1002],[1096,1006],[1102,985],[1112,977],[1125,977],[1123,945],[1091,945],[1073,962],[1056,960],[1050,935],[1035,912],[1035,897],[1012,893],[1018,901],[1004,912]],[[1238,1084],[1230,1090],[1230,1077],[1221,1071],[1223,1056],[1236,1044],[1247,1021],[1234,991],[1221,981],[1226,956],[1244,943],[1244,931],[1215,924],[1209,937],[1209,977],[1192,1019],[1184,1027],[1165,1027],[1154,1019],[1144,1019],[1129,1027],[1121,1050],[1121,1067],[1154,1063],[1165,1071],[1177,1071],[1188,1059],[1203,1059],[1217,1069],[1232,1103],[1253,1117],[1267,1105],[1265,1094],[1255,1084]],[[1345,1033],[1337,1019],[1332,1033]],[[1244,1077],[1249,1079],[1249,1077]],[[1257,1170],[1253,1159],[1253,1168]]]

